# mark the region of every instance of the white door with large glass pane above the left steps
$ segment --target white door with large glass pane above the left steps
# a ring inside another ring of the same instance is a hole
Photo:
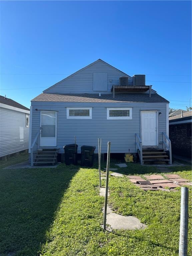
[[[57,146],[57,112],[41,111],[40,146]]]

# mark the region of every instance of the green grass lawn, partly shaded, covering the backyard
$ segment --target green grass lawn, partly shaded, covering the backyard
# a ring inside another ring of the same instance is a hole
[[[148,228],[106,232],[101,228],[104,198],[99,196],[96,168],[60,164],[55,169],[1,169],[0,255],[178,256],[180,188],[177,193],[145,192],[125,176],[111,176],[112,209],[139,218]],[[189,166],[171,169],[191,179]],[[142,176],[158,170],[128,164],[118,172]],[[189,213],[191,218],[191,204]]]

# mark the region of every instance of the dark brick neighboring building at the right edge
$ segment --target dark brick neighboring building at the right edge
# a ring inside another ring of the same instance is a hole
[[[172,153],[191,158],[192,147],[192,111],[169,118],[169,138],[172,145]]]

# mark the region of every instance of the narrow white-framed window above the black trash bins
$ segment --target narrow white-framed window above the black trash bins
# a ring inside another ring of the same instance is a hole
[[[67,108],[67,119],[92,119],[92,108]]]

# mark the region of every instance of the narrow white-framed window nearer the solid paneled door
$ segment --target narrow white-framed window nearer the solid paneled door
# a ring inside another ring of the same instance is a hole
[[[132,119],[132,108],[107,108],[107,119]]]

